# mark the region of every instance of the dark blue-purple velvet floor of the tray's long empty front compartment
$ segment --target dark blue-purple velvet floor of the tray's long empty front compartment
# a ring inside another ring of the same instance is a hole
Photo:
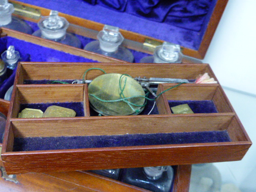
[[[228,132],[180,132],[105,136],[14,138],[13,151],[230,142]]]

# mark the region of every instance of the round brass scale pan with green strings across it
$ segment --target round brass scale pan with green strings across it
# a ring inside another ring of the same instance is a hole
[[[145,92],[130,76],[117,73],[98,76],[89,84],[88,94],[91,107],[104,116],[137,115],[144,109]]]

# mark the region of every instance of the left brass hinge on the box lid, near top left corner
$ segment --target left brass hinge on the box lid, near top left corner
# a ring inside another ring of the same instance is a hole
[[[27,18],[38,20],[41,17],[41,11],[32,7],[12,3],[14,6],[14,14]]]

